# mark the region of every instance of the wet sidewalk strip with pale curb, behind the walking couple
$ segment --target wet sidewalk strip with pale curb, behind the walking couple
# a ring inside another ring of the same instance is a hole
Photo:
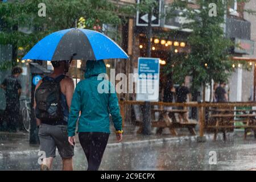
[[[121,146],[121,145],[132,145],[138,143],[161,143],[164,140],[188,140],[188,139],[196,139],[196,136],[191,136],[187,129],[179,129],[179,136],[174,137],[170,134],[168,129],[163,131],[162,135],[157,135],[152,130],[152,135],[142,135],[137,134],[138,127],[130,124],[126,124],[123,140],[121,143],[117,143],[114,133],[114,127],[111,126],[110,129],[112,133],[109,137],[108,146]],[[81,147],[79,143],[78,136],[76,135],[76,147]],[[31,152],[35,154],[39,151],[38,144],[29,144],[29,134],[26,132],[18,132],[18,133],[8,133],[8,132],[0,132],[0,159],[6,156],[26,156],[30,155]]]

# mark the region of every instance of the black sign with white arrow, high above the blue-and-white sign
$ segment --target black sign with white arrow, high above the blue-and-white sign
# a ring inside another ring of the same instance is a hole
[[[144,0],[138,0],[137,3],[139,4]],[[152,17],[151,17],[151,26],[152,27],[159,27],[160,26],[160,14],[161,14],[161,6],[162,6],[162,0],[155,0],[158,2],[158,6],[156,6],[153,9]],[[148,26],[148,14],[147,13],[141,13],[137,11],[136,16],[136,25],[137,26]]]

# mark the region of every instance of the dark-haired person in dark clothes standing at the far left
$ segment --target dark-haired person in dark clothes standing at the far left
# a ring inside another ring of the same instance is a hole
[[[22,86],[18,77],[22,73],[22,68],[15,67],[11,71],[11,76],[5,78],[1,84],[1,88],[5,90],[6,109],[5,116],[7,122],[7,131],[16,132],[21,129],[19,114],[19,97]]]

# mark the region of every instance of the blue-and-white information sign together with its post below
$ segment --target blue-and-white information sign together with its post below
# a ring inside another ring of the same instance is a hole
[[[142,106],[142,134],[151,134],[150,102],[159,100],[159,58],[139,57],[136,100],[145,101]]]

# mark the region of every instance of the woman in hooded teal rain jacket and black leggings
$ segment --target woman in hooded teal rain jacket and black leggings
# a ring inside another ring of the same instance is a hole
[[[114,86],[102,79],[101,73],[106,73],[103,60],[86,62],[85,80],[76,86],[68,119],[68,140],[74,145],[79,118],[79,141],[88,161],[88,170],[100,167],[110,134],[109,114],[112,115],[117,140],[122,140],[122,117],[117,94]]]

